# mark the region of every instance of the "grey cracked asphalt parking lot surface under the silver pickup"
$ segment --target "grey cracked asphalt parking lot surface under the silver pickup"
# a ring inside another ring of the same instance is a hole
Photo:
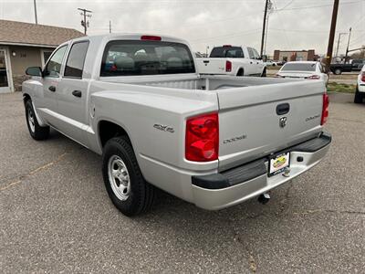
[[[128,218],[98,155],[57,132],[32,140],[21,94],[0,95],[1,272],[363,272],[365,104],[352,100],[330,95],[326,159],[267,205],[208,212],[161,195]]]

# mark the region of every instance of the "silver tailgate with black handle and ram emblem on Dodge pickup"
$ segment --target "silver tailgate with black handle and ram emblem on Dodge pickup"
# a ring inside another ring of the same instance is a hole
[[[320,80],[216,92],[221,171],[276,153],[321,132],[325,85]]]

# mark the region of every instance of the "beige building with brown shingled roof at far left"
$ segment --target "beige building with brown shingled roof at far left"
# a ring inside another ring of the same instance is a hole
[[[27,67],[43,67],[59,44],[82,36],[71,28],[0,20],[0,93],[21,90]]]

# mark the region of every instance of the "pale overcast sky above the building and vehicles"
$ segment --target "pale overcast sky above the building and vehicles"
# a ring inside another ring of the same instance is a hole
[[[266,53],[274,49],[327,50],[333,0],[271,0]],[[350,47],[365,44],[365,0],[340,0],[339,32],[349,32]],[[82,31],[78,7],[91,10],[89,35],[109,32],[165,34],[187,39],[196,51],[233,44],[260,49],[265,0],[36,0],[38,24]],[[0,18],[34,23],[33,0],[0,0]],[[0,29],[1,31],[1,29]],[[347,36],[341,37],[344,53]]]

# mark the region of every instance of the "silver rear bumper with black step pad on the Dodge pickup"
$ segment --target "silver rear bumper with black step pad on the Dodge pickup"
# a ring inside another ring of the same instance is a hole
[[[267,176],[268,158],[235,167],[219,174],[193,176],[193,203],[208,210],[236,205],[302,174],[326,155],[331,142],[328,133],[287,148],[290,152],[290,174]]]

